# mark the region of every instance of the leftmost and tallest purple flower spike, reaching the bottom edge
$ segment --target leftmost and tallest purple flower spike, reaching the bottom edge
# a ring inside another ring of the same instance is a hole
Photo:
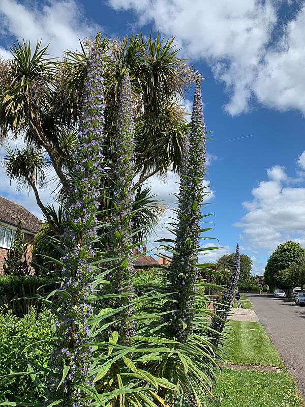
[[[76,385],[89,386],[92,348],[87,319],[92,307],[87,298],[90,284],[90,261],[95,253],[91,243],[97,236],[100,172],[103,169],[104,79],[102,51],[98,34],[89,55],[78,145],[74,154],[71,189],[67,197],[67,227],[64,234],[63,284],[57,293],[61,318],[55,322],[56,342],[51,355],[53,375],[46,381],[48,404],[60,400],[62,407],[82,407],[82,392]]]

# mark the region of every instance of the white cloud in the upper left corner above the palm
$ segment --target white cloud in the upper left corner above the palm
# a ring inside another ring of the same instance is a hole
[[[92,37],[98,31],[75,0],[29,0],[25,5],[17,0],[1,0],[0,18],[2,38],[12,36],[32,44],[42,40],[44,45],[50,43],[48,52],[56,57],[67,49],[78,48],[79,39]],[[8,57],[8,50],[0,47],[0,56]]]

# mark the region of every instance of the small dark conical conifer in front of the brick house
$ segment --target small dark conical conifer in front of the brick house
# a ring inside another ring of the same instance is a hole
[[[26,249],[27,243],[24,243],[22,236],[22,222],[19,221],[12,247],[9,249],[7,257],[4,258],[4,274],[19,277],[29,274],[31,266]]]

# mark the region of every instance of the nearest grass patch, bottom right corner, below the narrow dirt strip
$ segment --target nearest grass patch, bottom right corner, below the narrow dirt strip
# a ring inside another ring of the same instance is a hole
[[[207,407],[304,407],[295,383],[281,373],[223,369]]]

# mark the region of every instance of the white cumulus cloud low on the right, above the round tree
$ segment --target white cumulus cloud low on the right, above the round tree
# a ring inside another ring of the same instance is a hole
[[[289,239],[305,245],[304,157],[305,152],[297,160],[298,178],[288,177],[280,165],[268,168],[267,180],[252,190],[253,200],[243,202],[247,213],[235,226],[252,248],[274,250]]]

